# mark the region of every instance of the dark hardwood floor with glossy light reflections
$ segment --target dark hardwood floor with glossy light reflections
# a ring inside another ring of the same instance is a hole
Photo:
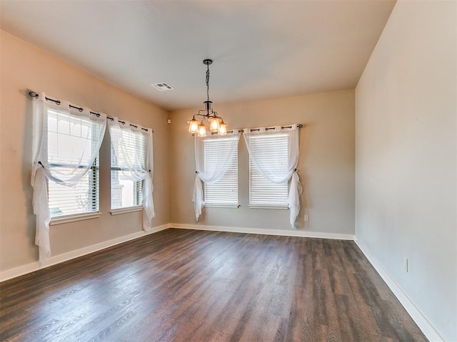
[[[0,284],[1,341],[427,341],[354,242],[166,229]]]

